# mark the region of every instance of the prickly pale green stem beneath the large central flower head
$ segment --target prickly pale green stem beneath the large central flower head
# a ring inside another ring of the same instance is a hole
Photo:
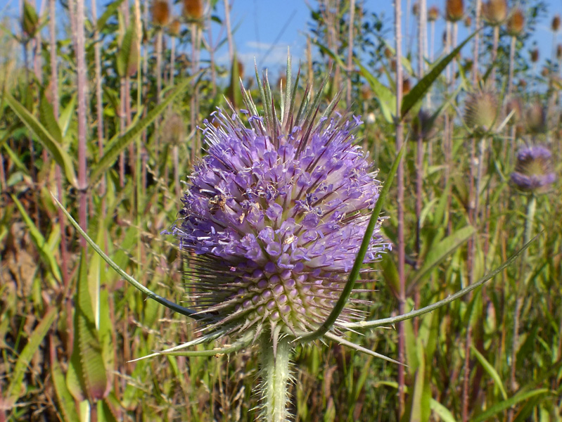
[[[275,346],[269,333],[262,335],[261,347],[261,395],[264,422],[286,422],[289,420],[287,404],[288,381],[290,378],[289,359],[291,345],[287,338],[279,339]]]

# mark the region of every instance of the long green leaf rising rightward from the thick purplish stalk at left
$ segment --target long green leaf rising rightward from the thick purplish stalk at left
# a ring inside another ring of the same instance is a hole
[[[103,157],[99,160],[99,162],[94,165],[90,173],[90,185],[94,186],[96,182],[101,178],[104,172],[108,170],[109,167],[113,165],[119,154],[129,146],[129,143],[136,139],[136,136],[139,136],[144,129],[146,129],[156,118],[164,112],[167,108],[168,104],[170,104],[174,98],[182,94],[185,89],[189,86],[192,77],[186,78],[184,82],[177,85],[177,87],[168,95],[162,103],[155,106],[146,117],[143,118],[140,122],[134,125],[131,129],[129,129],[117,142],[113,143],[110,148],[108,148],[103,153]]]

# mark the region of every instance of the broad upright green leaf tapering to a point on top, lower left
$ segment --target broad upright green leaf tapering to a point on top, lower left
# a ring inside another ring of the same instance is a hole
[[[75,338],[71,359],[86,396],[93,400],[102,399],[106,396],[108,378],[91,307],[85,251],[80,257],[75,306]]]

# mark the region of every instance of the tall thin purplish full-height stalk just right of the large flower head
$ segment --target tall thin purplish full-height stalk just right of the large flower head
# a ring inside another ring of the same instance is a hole
[[[402,149],[402,141],[404,136],[404,127],[402,119],[400,119],[400,111],[402,107],[402,7],[400,0],[395,0],[395,39],[396,39],[396,151]],[[400,160],[397,171],[398,179],[398,197],[397,197],[397,217],[398,217],[398,279],[400,283],[398,298],[398,313],[404,314],[406,306],[406,278],[405,278],[405,260],[406,249],[404,245],[404,162]],[[404,362],[406,338],[404,331],[404,323],[398,325],[398,360]],[[398,417],[402,418],[404,414],[404,388],[405,388],[405,372],[404,366],[398,366]]]

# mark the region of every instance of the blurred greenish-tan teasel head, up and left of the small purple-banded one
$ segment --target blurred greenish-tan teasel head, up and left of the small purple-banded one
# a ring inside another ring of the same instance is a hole
[[[471,92],[465,103],[466,125],[476,133],[489,132],[497,120],[497,111],[497,96],[492,91]]]

